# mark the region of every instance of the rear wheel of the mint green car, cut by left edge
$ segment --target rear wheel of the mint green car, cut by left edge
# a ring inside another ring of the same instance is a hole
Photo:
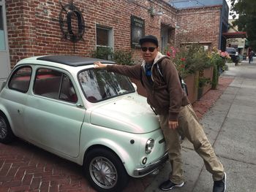
[[[10,123],[4,113],[0,112],[0,142],[10,143],[15,138]]]

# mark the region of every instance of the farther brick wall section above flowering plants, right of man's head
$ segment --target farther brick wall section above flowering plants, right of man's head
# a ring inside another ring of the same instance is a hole
[[[219,47],[220,17],[220,6],[179,11],[176,44],[202,42],[204,45],[209,45],[210,48]]]

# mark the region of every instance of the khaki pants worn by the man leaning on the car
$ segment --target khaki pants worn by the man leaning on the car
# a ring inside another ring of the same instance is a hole
[[[187,139],[194,145],[195,151],[203,158],[206,169],[213,176],[214,180],[222,180],[224,169],[218,161],[211,147],[210,142],[200,125],[197,115],[195,115],[192,106],[189,104],[181,107],[178,115],[178,128],[172,129],[168,127],[168,115],[160,115],[160,125],[165,136],[165,142],[168,147],[168,154],[172,171],[170,172],[170,180],[173,183],[181,184],[184,181],[181,144],[179,140],[180,134],[184,134]]]

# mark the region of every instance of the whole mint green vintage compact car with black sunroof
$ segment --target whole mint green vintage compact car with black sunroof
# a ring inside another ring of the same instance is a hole
[[[83,166],[97,191],[121,191],[166,160],[157,115],[112,61],[45,55],[18,62],[0,92],[0,142],[19,137]]]

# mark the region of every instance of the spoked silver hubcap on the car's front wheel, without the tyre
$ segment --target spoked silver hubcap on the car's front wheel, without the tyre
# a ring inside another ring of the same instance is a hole
[[[116,167],[108,158],[96,157],[89,166],[91,178],[101,188],[113,188],[116,185],[118,174]]]

